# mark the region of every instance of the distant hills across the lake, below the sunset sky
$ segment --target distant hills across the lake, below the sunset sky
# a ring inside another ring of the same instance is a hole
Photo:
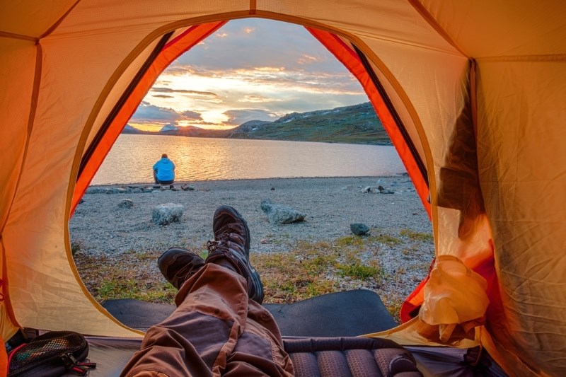
[[[292,112],[275,122],[251,120],[227,130],[166,124],[159,132],[132,132],[125,129],[123,133],[391,145],[383,124],[369,102],[332,110]]]

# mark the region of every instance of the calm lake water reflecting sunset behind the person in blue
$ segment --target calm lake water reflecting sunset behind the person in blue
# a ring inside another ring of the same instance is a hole
[[[122,134],[92,184],[153,182],[151,166],[161,153],[177,166],[176,181],[405,172],[393,146]]]

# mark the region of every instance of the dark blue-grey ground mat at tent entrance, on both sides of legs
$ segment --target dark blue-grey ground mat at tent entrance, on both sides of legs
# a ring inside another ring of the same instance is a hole
[[[283,336],[352,337],[397,324],[379,295],[358,289],[308,298],[296,303],[265,303]],[[134,299],[109,300],[103,307],[121,323],[147,330],[168,317],[175,306]]]

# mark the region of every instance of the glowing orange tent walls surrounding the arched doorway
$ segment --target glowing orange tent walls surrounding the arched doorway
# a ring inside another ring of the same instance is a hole
[[[304,25],[362,82],[432,217],[429,279],[444,262],[483,277],[484,315],[446,298],[461,329],[508,373],[566,373],[565,16],[553,0],[2,1],[1,336],[142,336],[81,283],[69,216],[164,63],[262,17]],[[446,340],[454,318],[432,287],[405,303],[405,320],[422,304],[417,318],[379,336]]]

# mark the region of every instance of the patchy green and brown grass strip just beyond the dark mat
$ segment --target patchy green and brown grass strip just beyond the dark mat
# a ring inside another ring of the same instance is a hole
[[[274,242],[280,239],[272,235],[270,238]],[[299,241],[287,253],[253,253],[251,260],[260,272],[266,303],[291,303],[321,294],[366,287],[378,291],[388,310],[397,318],[404,297],[388,294],[384,289],[388,284],[403,284],[400,282],[405,281],[403,276],[408,271],[427,271],[428,262],[417,262],[386,273],[379,264],[380,250],[400,245],[399,257],[411,260],[412,255],[419,253],[424,246],[421,243],[431,240],[432,235],[428,233],[403,229],[400,237],[379,234],[345,236],[328,242]],[[80,250],[80,245],[76,246],[76,250]],[[203,258],[207,256],[202,245],[194,251]],[[161,251],[129,250],[117,260],[117,257],[105,254],[93,257],[77,253],[75,262],[87,289],[100,302],[136,298],[171,303],[176,290],[158,271],[156,260],[159,255]]]

